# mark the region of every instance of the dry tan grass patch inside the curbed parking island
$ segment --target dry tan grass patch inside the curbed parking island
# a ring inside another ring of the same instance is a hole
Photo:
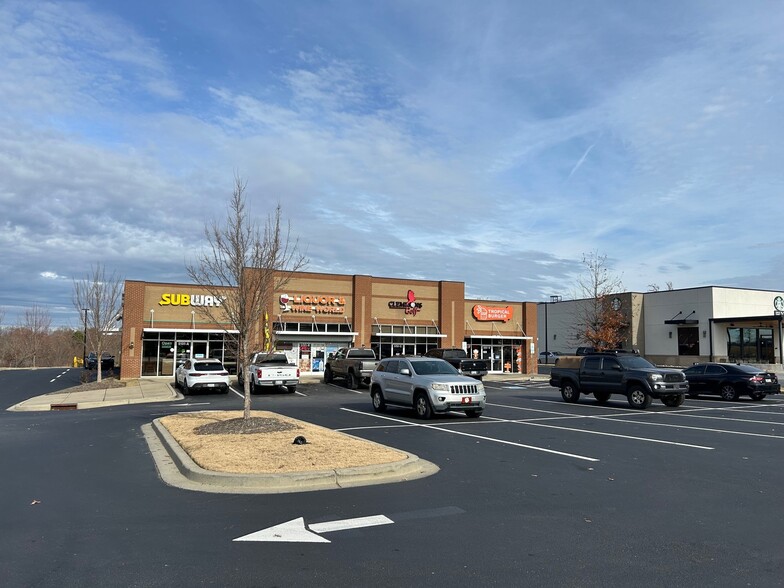
[[[194,462],[216,472],[306,472],[392,463],[407,457],[371,441],[261,410],[251,411],[250,427],[244,433],[241,411],[180,413],[160,422]],[[295,445],[297,436],[305,437],[307,444]]]

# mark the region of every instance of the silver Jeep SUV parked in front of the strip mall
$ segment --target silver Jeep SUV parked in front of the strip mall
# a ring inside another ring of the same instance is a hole
[[[486,399],[482,382],[461,376],[452,365],[433,357],[381,360],[370,377],[370,398],[377,412],[387,405],[406,406],[421,419],[455,410],[478,418]]]

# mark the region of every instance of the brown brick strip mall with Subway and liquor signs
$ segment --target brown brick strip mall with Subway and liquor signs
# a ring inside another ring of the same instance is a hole
[[[220,317],[222,302],[193,285],[126,281],[121,378],[172,376],[179,361],[202,357],[235,372],[236,330],[205,312]],[[382,358],[462,347],[491,372],[532,373],[536,331],[535,302],[467,300],[463,282],[298,272],[270,299],[252,344],[286,353],[303,373],[350,346]]]

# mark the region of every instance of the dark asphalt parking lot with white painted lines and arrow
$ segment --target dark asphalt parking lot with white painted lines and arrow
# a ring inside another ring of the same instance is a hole
[[[486,385],[478,420],[375,413],[366,389],[319,382],[254,397],[440,468],[287,495],[190,492],[156,475],[140,426],[239,409],[237,394],[4,414],[9,585],[781,585],[784,399],[637,411],[623,398],[567,404],[543,382]]]

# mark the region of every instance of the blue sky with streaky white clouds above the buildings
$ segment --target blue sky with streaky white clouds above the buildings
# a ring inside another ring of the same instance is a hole
[[[784,3],[0,0],[0,314],[188,283],[235,176],[307,271],[784,289]]]

